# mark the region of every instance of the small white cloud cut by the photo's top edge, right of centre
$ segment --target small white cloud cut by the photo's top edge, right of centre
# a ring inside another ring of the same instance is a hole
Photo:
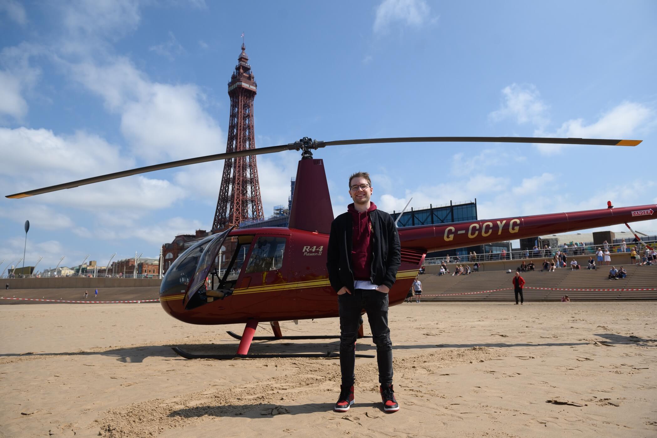
[[[436,18],[430,18],[430,7],[424,0],[384,0],[376,7],[373,29],[374,33],[386,33],[396,22],[419,28],[428,21],[435,22]]]

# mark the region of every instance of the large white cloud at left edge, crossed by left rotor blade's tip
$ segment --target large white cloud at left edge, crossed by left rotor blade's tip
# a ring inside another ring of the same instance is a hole
[[[0,167],[0,177],[5,177],[3,188],[12,192],[104,175],[135,165],[131,158],[121,156],[118,146],[83,132],[58,136],[47,129],[0,128],[0,150],[13,151],[5,155],[5,165]],[[139,175],[18,202],[36,200],[91,211],[101,207],[158,209],[169,207],[184,196],[184,190],[169,181]]]

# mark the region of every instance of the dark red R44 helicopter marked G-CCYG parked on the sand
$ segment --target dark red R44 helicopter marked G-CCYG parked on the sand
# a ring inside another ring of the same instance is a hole
[[[208,236],[179,255],[164,275],[160,286],[160,303],[174,318],[191,324],[246,324],[242,336],[229,332],[231,336],[240,339],[235,355],[196,355],[174,348],[182,357],[289,357],[290,355],[248,355],[248,349],[254,339],[339,338],[283,336],[279,326],[281,320],[338,317],[336,293],[328,282],[326,266],[328,233],[333,212],[324,162],[313,158],[312,151],[340,144],[389,142],[528,142],[636,146],[641,141],[535,137],[399,137],[323,142],[304,137],[290,144],[139,167],[12,194],[7,198],[24,198],[181,165],[284,150],[301,151],[302,158],[297,168],[297,183],[288,228],[231,227]],[[614,208],[608,203],[608,208],[597,210],[399,229],[401,266],[397,272],[397,281],[389,293],[390,305],[404,301],[427,252],[644,221],[653,219],[656,209],[654,204]],[[274,336],[254,337],[259,322],[270,322]],[[363,335],[362,325],[359,333]]]

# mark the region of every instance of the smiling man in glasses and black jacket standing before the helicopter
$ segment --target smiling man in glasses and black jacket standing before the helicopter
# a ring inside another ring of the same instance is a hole
[[[376,344],[376,363],[385,412],[399,410],[392,386],[392,341],[388,328],[388,292],[401,265],[401,247],[395,222],[371,202],[372,181],[367,172],[349,179],[353,204],[334,219],[327,250],[328,280],[338,294],[340,313],[340,372],[342,384],[334,410],[353,405],[355,342],[361,310],[367,312]]]

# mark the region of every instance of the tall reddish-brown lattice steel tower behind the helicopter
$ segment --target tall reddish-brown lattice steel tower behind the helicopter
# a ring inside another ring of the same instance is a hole
[[[242,43],[242,53],[237,58],[235,72],[228,83],[231,116],[226,152],[256,147],[253,100],[256,97],[257,85],[244,49],[246,47]],[[212,230],[239,225],[245,219],[264,219],[264,217],[256,156],[225,160]]]

